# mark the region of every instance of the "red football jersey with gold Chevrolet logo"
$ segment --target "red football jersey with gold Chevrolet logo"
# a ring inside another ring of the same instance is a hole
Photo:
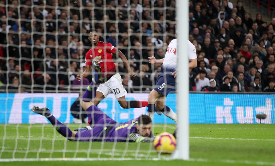
[[[96,48],[91,47],[91,49],[86,53],[85,63],[86,65],[92,65],[92,62],[96,61],[101,67],[101,76],[103,78],[109,77],[116,71],[112,58],[112,54],[116,50],[117,48],[112,44],[99,41]]]

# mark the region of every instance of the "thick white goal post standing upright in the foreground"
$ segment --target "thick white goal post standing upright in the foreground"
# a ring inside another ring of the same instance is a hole
[[[177,147],[172,159],[189,160],[188,1],[176,1],[177,23]],[[180,92],[180,93],[179,93]]]

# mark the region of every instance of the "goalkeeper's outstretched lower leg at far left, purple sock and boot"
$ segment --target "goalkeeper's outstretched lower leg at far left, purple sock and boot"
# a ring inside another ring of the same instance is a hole
[[[56,131],[58,131],[58,133],[60,133],[70,141],[74,140],[75,132],[72,132],[66,125],[57,120],[52,115],[49,108],[39,108],[37,106],[34,106],[32,108],[32,112],[45,116],[52,123],[53,127],[56,129]]]

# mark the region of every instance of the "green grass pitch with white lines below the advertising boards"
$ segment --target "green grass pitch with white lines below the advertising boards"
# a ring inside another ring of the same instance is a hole
[[[73,130],[82,124],[69,124],[69,127]],[[153,132],[154,135],[163,131],[173,133],[175,128],[174,124],[154,124]],[[156,153],[152,143],[70,142],[50,124],[0,124],[0,161],[65,157],[128,160],[14,161],[0,165],[275,165],[275,127],[272,124],[190,124],[190,161],[167,161],[170,155]]]

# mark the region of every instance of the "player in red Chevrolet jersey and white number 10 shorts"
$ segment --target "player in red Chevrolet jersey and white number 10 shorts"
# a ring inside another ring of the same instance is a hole
[[[83,74],[76,76],[76,79],[80,81],[82,78],[87,77],[91,73],[92,65],[94,67],[100,66],[98,68],[101,68],[101,76],[98,76],[99,78],[96,79],[96,81],[100,80],[101,82],[99,82],[100,84],[97,88],[93,103],[97,106],[97,104],[99,104],[108,94],[113,93],[122,108],[141,108],[148,106],[147,101],[126,101],[125,99],[127,92],[123,88],[121,76],[119,73],[116,73],[116,66],[113,62],[112,54],[118,54],[119,58],[121,58],[123,64],[126,66],[127,71],[130,73],[130,76],[135,77],[135,73],[130,69],[125,55],[110,43],[100,42],[97,29],[92,28],[88,33],[88,38],[92,43],[92,47],[85,57],[86,70]],[[91,99],[91,96],[93,96],[92,94],[92,89],[88,86],[86,92],[83,94],[82,103],[89,102],[87,98]]]

